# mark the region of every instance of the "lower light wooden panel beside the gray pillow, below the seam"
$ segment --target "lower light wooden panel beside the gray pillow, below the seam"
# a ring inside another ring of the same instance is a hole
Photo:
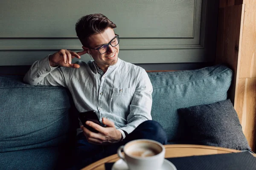
[[[238,81],[236,111],[242,125],[244,135],[255,150],[256,128],[256,78],[241,78]]]

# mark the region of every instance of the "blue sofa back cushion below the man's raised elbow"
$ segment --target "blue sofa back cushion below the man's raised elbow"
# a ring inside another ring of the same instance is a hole
[[[76,135],[66,88],[0,77],[0,153],[68,144]],[[77,119],[77,115],[73,115]]]

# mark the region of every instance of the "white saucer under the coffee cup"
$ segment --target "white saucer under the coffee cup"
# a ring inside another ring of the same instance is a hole
[[[122,159],[119,159],[113,164],[113,167],[111,170],[129,170],[127,164]],[[159,170],[177,170],[174,164],[172,162],[168,161],[167,159],[164,159],[162,167],[160,167]]]

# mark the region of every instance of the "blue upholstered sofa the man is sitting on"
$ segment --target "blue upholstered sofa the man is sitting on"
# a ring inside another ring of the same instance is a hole
[[[188,135],[192,126],[187,127],[189,123],[178,111],[227,101],[233,71],[225,65],[214,65],[195,70],[148,72],[148,76],[153,85],[151,116],[163,126],[169,144],[197,144],[190,140],[193,136]],[[2,75],[0,94],[0,170],[66,167],[79,127],[78,112],[69,91],[58,86],[27,85],[23,83],[23,76]],[[189,120],[191,123],[191,118]],[[194,122],[198,125],[200,121]],[[241,131],[239,125],[233,130]],[[218,133],[225,131],[216,126]],[[243,142],[246,144],[246,139]],[[250,147],[233,149],[250,150]]]

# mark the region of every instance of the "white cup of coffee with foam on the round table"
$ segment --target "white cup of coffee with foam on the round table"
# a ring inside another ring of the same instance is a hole
[[[163,164],[165,148],[159,142],[138,139],[120,146],[117,154],[127,163],[129,170],[158,170]]]

